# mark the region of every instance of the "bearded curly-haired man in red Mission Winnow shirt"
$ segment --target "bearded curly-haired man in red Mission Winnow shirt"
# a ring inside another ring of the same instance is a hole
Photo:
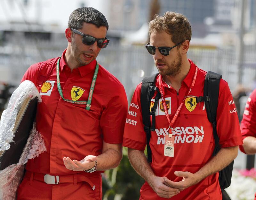
[[[155,130],[150,132],[148,143],[152,161],[148,163],[144,154],[147,137],[140,106],[141,83],[132,97],[123,140],[133,168],[146,181],[140,189],[140,199],[222,199],[217,172],[236,158],[242,144],[228,84],[220,80],[216,119],[221,150],[212,157],[212,124],[204,102],[196,102],[196,97],[204,96],[206,72],[187,58],[191,39],[188,19],[175,12],[156,16],[149,23],[149,35],[150,42],[145,47],[159,71],[155,83],[160,93]],[[157,91],[151,99],[151,111],[156,94]]]

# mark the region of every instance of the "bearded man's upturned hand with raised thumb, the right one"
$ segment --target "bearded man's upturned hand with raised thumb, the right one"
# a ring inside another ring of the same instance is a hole
[[[201,181],[201,179],[199,177],[197,177],[196,174],[192,174],[190,172],[175,171],[174,174],[176,176],[183,177],[182,181],[173,182],[164,177],[164,184],[166,184],[172,188],[177,188],[180,191],[188,188],[191,185],[195,185],[196,183]]]

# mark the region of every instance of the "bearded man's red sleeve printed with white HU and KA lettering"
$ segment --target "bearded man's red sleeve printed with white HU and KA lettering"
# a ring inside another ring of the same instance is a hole
[[[228,83],[220,80],[217,108],[217,133],[222,148],[243,144],[236,106]]]

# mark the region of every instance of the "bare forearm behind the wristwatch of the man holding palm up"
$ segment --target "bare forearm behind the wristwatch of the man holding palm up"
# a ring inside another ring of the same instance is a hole
[[[97,156],[97,171],[105,171],[108,169],[116,168],[120,161],[122,160],[122,147],[120,146],[120,150],[116,149],[108,149],[102,154]]]

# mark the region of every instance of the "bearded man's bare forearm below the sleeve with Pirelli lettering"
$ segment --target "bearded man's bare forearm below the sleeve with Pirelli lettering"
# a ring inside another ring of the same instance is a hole
[[[134,170],[145,179],[145,181],[150,182],[149,179],[155,176],[152,168],[148,164],[147,158],[143,151],[128,148],[128,158],[132,164]]]

